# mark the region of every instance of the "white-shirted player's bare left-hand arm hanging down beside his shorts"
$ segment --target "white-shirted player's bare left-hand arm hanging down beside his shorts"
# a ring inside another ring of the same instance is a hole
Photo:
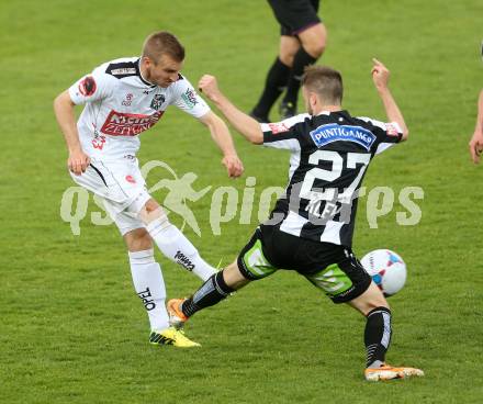
[[[61,92],[54,101],[54,112],[60,131],[69,152],[67,166],[69,170],[79,176],[86,171],[90,164],[89,156],[86,155],[80,146],[79,133],[77,132],[76,116],[74,114],[75,103],[70,99],[69,92]]]

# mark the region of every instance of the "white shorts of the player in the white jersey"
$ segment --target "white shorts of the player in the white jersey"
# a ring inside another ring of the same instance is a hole
[[[74,181],[100,197],[105,211],[117,225],[122,235],[145,227],[138,213],[150,199],[141,173],[137,158],[119,161],[92,159],[86,172]]]

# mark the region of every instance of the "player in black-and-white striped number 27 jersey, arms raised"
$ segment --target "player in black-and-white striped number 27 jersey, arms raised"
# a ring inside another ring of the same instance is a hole
[[[334,303],[347,303],[366,316],[367,380],[424,374],[385,363],[392,313],[351,249],[358,191],[371,159],[408,136],[387,87],[389,70],[375,59],[372,78],[389,123],[342,110],[342,79],[328,67],[305,71],[302,90],[307,113],[261,125],[220,91],[213,76],[201,79],[203,93],[249,142],[291,152],[289,184],[235,262],[213,274],[191,298],[168,302],[173,325],[182,326],[198,311],[251,281],[293,270]]]

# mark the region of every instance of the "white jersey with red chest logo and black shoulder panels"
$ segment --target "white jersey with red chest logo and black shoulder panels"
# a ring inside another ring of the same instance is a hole
[[[75,104],[86,104],[77,128],[83,152],[98,160],[134,156],[138,135],[154,126],[168,105],[194,117],[210,106],[181,75],[167,88],[143,79],[139,58],[121,58],[97,67],[69,88]]]

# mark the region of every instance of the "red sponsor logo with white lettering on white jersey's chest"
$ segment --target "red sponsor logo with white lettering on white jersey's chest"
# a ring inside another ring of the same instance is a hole
[[[101,132],[111,136],[137,136],[154,126],[164,111],[157,111],[151,115],[111,111],[101,127]]]

